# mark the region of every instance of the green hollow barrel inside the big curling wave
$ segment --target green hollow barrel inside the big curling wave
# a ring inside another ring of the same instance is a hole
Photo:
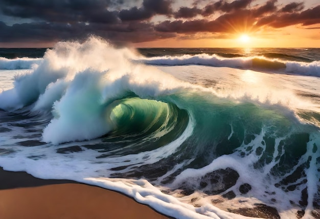
[[[187,111],[173,103],[138,97],[113,101],[105,115],[113,130],[103,141],[112,144],[112,149],[121,148],[117,155],[162,147],[177,139],[189,122]]]

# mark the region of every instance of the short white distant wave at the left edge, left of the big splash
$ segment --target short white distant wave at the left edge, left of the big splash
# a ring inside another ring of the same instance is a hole
[[[0,70],[30,69],[32,65],[39,64],[42,58],[7,59],[0,57]]]

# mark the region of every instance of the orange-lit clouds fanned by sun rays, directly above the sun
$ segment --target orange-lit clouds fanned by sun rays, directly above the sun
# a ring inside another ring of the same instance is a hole
[[[155,30],[162,32],[176,33],[196,33],[196,32],[214,32],[214,33],[235,33],[255,31],[261,26],[270,26],[273,28],[282,28],[286,26],[302,24],[313,25],[320,24],[320,5],[302,11],[301,13],[288,11],[299,11],[302,3],[288,4],[282,9],[277,7],[277,0],[269,0],[262,6],[247,8],[252,1],[234,1],[230,4],[219,1],[203,8],[201,14],[204,16],[213,13],[214,10],[224,12],[215,20],[175,20],[164,21],[155,27]],[[234,10],[236,5],[243,9]]]

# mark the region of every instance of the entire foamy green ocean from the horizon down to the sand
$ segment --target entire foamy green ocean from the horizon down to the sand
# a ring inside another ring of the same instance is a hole
[[[134,50],[92,37],[0,56],[6,170],[120,191],[176,218],[319,212],[320,49]]]

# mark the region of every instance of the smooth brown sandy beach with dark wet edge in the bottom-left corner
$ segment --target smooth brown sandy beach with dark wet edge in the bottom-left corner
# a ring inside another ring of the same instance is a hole
[[[0,218],[168,218],[126,195],[0,168]]]

